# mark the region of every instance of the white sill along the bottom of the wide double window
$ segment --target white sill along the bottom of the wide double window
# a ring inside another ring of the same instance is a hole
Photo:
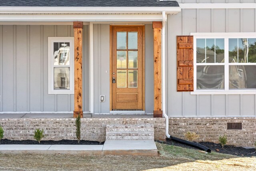
[[[229,90],[229,91],[191,91],[191,95],[210,95],[210,94],[256,94],[256,89],[255,90]]]

